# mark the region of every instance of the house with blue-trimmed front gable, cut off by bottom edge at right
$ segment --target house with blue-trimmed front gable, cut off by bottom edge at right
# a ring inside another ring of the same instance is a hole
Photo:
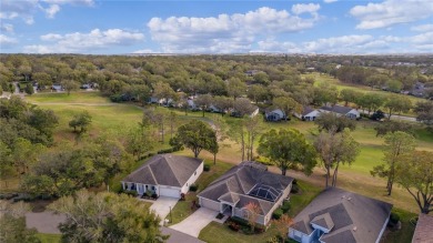
[[[302,243],[379,243],[391,209],[390,203],[329,188],[295,216],[289,237]]]

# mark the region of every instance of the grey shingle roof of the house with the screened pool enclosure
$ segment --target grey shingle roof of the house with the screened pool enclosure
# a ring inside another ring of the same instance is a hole
[[[256,184],[264,184],[272,186],[276,191],[283,191],[292,181],[292,178],[265,171],[265,166],[261,164],[242,162],[212,182],[198,196],[216,202],[220,200],[230,202],[228,200],[233,200],[236,196],[239,198],[239,202],[235,204],[235,207],[242,209],[248,203],[254,202],[260,205],[262,213],[265,214],[272,209],[274,202],[248,195],[251,189]],[[229,195],[233,199],[229,199]]]

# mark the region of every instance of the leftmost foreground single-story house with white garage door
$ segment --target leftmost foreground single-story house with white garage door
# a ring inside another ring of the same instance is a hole
[[[124,178],[121,183],[125,191],[142,195],[152,194],[181,198],[203,172],[203,161],[173,154],[158,154]]]

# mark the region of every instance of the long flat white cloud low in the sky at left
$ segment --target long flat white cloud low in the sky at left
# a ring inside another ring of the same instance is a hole
[[[92,53],[94,50],[110,47],[124,47],[144,40],[144,34],[129,32],[121,29],[109,29],[101,31],[94,29],[89,33],[48,33],[40,39],[52,44],[26,45],[23,52],[30,53]]]

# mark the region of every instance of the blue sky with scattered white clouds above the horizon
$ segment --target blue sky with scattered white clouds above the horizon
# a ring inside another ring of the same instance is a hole
[[[1,0],[0,53],[433,53],[433,0]]]

